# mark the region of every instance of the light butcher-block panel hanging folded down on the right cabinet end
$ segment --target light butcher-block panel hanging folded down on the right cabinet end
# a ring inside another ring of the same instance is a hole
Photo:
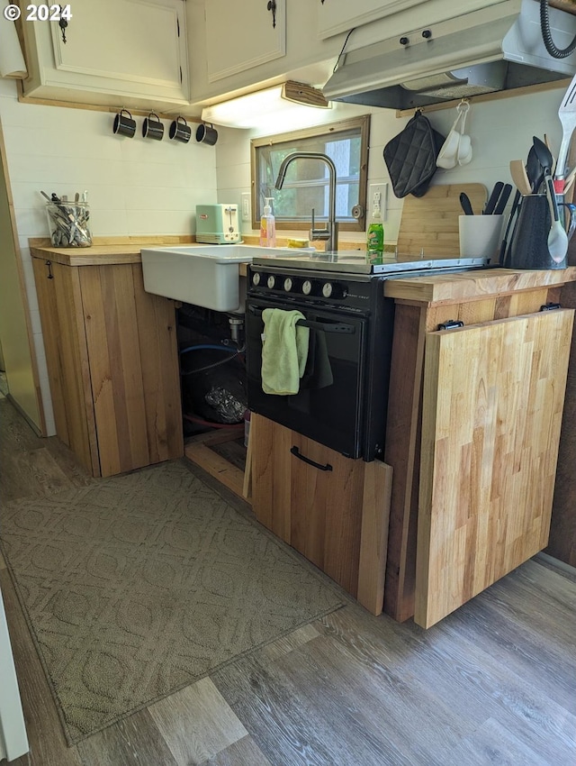
[[[572,309],[428,333],[415,622],[545,548]]]

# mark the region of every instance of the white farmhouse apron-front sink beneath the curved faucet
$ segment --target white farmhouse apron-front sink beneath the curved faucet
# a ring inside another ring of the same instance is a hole
[[[144,289],[214,311],[238,311],[240,263],[251,263],[258,255],[298,257],[302,250],[266,248],[257,245],[175,245],[143,248]]]

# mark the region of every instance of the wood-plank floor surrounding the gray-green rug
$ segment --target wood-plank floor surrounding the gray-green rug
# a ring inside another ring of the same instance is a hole
[[[0,401],[3,502],[93,480]],[[576,764],[576,579],[539,558],[429,631],[349,604],[72,748],[0,582],[31,742],[17,766]]]

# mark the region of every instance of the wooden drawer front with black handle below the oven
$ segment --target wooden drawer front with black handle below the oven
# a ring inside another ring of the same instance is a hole
[[[350,460],[260,415],[250,440],[257,520],[380,614],[390,466]]]

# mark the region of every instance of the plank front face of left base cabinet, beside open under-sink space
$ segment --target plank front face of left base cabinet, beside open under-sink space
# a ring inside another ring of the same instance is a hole
[[[102,476],[184,452],[175,308],[139,264],[79,269]]]

